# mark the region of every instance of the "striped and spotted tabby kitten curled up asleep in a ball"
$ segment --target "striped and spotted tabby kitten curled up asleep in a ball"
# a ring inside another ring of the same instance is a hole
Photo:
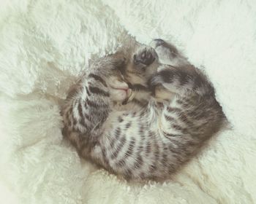
[[[62,115],[81,157],[139,180],[175,173],[225,118],[206,76],[161,39],[93,63]]]

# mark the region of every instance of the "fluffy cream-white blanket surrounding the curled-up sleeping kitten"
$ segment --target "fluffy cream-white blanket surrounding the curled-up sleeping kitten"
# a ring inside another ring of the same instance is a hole
[[[165,184],[120,180],[61,136],[75,76],[131,36],[204,67],[233,127]],[[255,70],[254,0],[0,1],[0,203],[256,203]]]

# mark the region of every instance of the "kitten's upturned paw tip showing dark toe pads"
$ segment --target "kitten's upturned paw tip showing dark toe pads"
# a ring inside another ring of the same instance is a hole
[[[143,47],[133,55],[135,65],[143,64],[145,66],[151,65],[156,59],[156,52],[152,47]]]

